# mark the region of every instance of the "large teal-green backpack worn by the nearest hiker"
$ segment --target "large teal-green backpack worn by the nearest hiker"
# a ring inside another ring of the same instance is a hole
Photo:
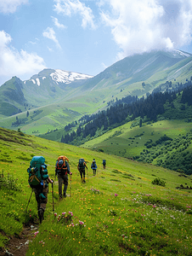
[[[31,188],[37,185],[43,185],[43,180],[48,178],[47,165],[43,156],[34,156],[30,162],[30,167],[27,169],[29,173],[29,184]]]

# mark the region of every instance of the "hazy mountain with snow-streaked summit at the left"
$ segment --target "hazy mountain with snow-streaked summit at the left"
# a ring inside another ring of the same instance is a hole
[[[66,99],[89,78],[92,76],[59,69],[44,69],[24,82],[14,77],[0,87],[0,103],[8,102],[22,111],[25,104],[30,108],[37,108],[58,102],[63,97]]]

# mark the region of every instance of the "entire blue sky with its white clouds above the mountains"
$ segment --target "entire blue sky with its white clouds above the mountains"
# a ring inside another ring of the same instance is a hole
[[[96,75],[152,49],[192,53],[192,0],[0,0],[0,85],[43,68]]]

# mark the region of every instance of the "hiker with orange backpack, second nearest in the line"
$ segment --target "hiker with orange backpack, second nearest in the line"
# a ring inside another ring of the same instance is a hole
[[[59,182],[59,200],[61,200],[64,197],[66,197],[66,190],[68,187],[68,175],[72,175],[72,172],[70,171],[70,165],[67,162],[69,161],[68,158],[65,155],[60,155],[58,160],[56,160],[55,164],[55,176],[58,177]],[[64,190],[62,195],[62,184],[64,183]]]

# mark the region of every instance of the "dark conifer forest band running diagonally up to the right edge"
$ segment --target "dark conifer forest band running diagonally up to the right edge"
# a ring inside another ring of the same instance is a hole
[[[180,88],[184,89],[180,91]],[[76,122],[79,124],[76,131],[71,132],[71,127],[76,125],[66,125],[65,131],[68,133],[61,138],[61,143],[80,145],[92,137],[98,137],[138,117],[140,117],[140,126],[143,122],[155,122],[159,119],[190,119],[192,118],[191,105],[191,80],[182,87],[179,86],[172,91],[166,90],[164,93],[155,92],[146,99],[127,96],[116,100],[116,104],[107,108],[106,111],[83,116],[78,123]]]

